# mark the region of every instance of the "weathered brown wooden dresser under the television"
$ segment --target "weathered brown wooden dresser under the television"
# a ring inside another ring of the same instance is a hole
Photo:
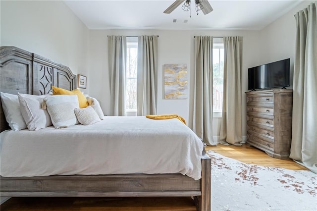
[[[247,144],[273,158],[289,158],[293,90],[247,92]]]

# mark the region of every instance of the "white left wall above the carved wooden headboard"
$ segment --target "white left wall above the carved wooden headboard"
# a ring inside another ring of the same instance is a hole
[[[89,30],[62,1],[2,0],[0,9],[1,46],[37,53],[89,76]],[[82,91],[89,92],[87,85]]]

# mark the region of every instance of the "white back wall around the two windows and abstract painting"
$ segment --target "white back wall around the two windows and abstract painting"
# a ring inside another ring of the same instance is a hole
[[[243,135],[246,135],[247,69],[259,62],[258,31],[212,31],[212,30],[91,30],[90,31],[90,94],[101,100],[105,114],[109,113],[109,84],[107,72],[107,35],[159,35],[159,73],[158,73],[158,114],[176,113],[189,121],[190,101],[194,87],[194,36],[243,36],[243,93],[242,116]],[[185,63],[188,69],[188,99],[165,100],[163,87],[163,65]],[[214,118],[214,136],[219,134],[219,119]]]

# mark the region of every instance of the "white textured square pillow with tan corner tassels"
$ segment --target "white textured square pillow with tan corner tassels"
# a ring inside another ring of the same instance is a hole
[[[77,95],[51,95],[44,99],[55,128],[78,124],[74,109],[79,108]]]

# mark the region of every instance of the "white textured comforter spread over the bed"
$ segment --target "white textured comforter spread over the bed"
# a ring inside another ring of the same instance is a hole
[[[89,126],[3,131],[0,174],[182,173],[197,180],[203,147],[178,119],[106,116]]]

